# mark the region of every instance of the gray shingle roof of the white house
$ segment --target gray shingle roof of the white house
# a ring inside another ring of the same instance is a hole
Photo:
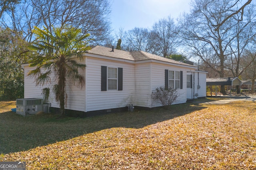
[[[102,47],[99,45],[92,46],[90,50],[87,51],[87,53],[90,54],[96,54],[96,55],[102,55],[102,56],[107,56],[107,57],[113,57],[113,58],[118,58],[118,59],[126,59],[130,61],[145,61],[145,60],[157,60],[157,61],[164,61],[168,63],[173,63],[173,64],[180,64],[180,65],[186,65],[186,66],[192,66],[190,64],[186,63],[181,63],[172,59],[167,59],[164,57],[160,57],[158,55],[153,55],[144,51],[122,51],[122,50],[117,50],[114,49],[114,52],[112,52],[112,48],[108,47]]]

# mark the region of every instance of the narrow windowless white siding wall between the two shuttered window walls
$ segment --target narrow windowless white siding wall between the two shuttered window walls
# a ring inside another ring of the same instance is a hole
[[[151,106],[150,63],[135,64],[135,104],[140,107]]]

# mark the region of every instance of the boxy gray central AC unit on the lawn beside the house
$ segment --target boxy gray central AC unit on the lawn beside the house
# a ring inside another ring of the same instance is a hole
[[[39,111],[43,111],[43,99],[39,99],[39,98],[16,99],[16,113],[26,116],[26,115],[34,115]]]

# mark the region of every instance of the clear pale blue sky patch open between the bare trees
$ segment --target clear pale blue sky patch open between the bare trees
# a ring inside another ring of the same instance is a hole
[[[183,12],[189,12],[190,0],[112,0],[112,28],[124,31],[134,27],[151,28],[167,16],[176,19]]]

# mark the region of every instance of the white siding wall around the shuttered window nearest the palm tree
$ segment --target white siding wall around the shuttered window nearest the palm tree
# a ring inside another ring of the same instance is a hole
[[[134,105],[134,63],[85,57],[86,105],[85,111],[112,109]],[[101,91],[101,66],[123,68],[123,90]],[[134,105],[135,106],[135,105]]]

